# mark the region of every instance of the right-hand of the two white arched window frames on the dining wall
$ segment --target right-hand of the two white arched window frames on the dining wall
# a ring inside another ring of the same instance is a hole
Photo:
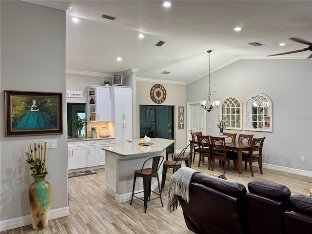
[[[272,132],[272,101],[265,94],[253,94],[245,102],[245,130]]]

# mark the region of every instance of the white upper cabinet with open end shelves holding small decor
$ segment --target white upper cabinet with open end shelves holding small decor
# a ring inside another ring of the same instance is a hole
[[[88,121],[111,121],[110,88],[88,86]]]

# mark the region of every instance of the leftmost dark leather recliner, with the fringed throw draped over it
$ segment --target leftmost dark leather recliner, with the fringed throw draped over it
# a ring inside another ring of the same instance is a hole
[[[249,234],[246,193],[240,183],[195,173],[190,202],[179,198],[188,229],[197,234]]]

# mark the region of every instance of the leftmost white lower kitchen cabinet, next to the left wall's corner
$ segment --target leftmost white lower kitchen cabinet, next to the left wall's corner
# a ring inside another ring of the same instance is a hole
[[[85,141],[68,143],[68,169],[87,167],[87,143]]]

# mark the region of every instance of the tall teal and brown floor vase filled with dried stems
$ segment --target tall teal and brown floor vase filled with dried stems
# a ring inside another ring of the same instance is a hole
[[[31,167],[29,168],[34,177],[34,183],[29,186],[29,203],[32,226],[34,230],[46,228],[48,226],[48,218],[50,211],[50,199],[51,199],[51,186],[50,183],[45,181],[45,176],[48,175],[45,157],[47,143],[43,145],[38,144],[38,157],[37,157],[37,143],[34,144],[34,151],[32,145],[29,145],[30,152],[25,152],[28,162]]]

